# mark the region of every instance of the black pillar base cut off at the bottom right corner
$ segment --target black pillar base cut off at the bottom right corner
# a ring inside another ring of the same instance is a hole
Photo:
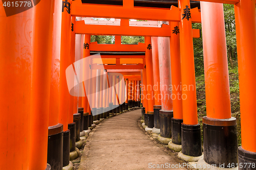
[[[238,165],[239,165],[239,170],[256,169],[256,152],[246,151],[242,149],[242,147],[239,147],[238,148]]]

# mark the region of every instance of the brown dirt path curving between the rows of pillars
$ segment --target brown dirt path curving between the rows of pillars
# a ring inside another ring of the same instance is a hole
[[[138,127],[140,116],[140,109],[122,113],[93,129],[87,138],[79,170],[185,169],[178,167],[183,162],[174,153],[156,144]],[[157,168],[161,164],[166,167]],[[172,168],[172,164],[178,168]]]

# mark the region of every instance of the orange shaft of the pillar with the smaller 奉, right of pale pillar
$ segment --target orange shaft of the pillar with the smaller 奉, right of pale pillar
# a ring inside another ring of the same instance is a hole
[[[181,99],[181,63],[180,63],[180,34],[173,33],[175,27],[179,27],[179,22],[170,22],[172,35],[170,36],[170,68],[172,73],[173,86],[173,111],[174,118],[182,119],[182,99]]]

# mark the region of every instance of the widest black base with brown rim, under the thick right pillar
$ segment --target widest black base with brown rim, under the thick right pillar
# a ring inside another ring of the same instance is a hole
[[[214,119],[203,117],[204,132],[204,161],[208,164],[216,164],[218,167],[224,164],[238,163],[238,138],[237,119]]]

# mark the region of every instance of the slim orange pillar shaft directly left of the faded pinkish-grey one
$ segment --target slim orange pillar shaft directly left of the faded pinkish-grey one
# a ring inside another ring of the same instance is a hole
[[[152,59],[153,59],[153,72],[154,72],[154,94],[155,105],[161,105],[161,90],[160,90],[160,74],[159,74],[159,60],[158,60],[158,37],[151,37],[152,41]]]

